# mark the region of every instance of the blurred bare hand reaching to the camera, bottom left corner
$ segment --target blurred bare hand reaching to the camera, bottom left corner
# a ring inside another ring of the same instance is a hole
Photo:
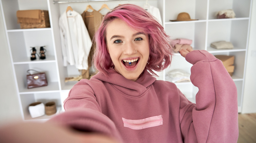
[[[0,128],[1,143],[117,143],[113,138],[80,133],[52,123],[17,122]]]

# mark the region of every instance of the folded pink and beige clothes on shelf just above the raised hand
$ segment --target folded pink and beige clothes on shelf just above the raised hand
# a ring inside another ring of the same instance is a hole
[[[181,49],[187,49],[187,48],[192,49],[192,47],[190,46],[191,44],[192,44],[192,40],[184,39],[184,38],[175,39],[171,41],[171,45],[173,47],[174,52],[178,52]]]

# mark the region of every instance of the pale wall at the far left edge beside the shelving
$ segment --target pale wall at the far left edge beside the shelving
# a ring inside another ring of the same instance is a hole
[[[0,125],[22,119],[0,7]]]

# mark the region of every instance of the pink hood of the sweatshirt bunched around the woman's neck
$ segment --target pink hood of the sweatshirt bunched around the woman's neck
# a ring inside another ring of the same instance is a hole
[[[117,90],[133,97],[139,97],[150,88],[150,85],[156,81],[156,78],[153,77],[148,71],[144,72],[143,75],[136,81],[126,79],[113,68],[111,68],[111,71],[113,72],[109,73],[108,76],[104,76],[101,72],[98,72],[91,79],[98,79],[103,82],[110,83]]]

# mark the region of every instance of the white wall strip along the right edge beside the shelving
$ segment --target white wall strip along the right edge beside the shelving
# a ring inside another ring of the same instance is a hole
[[[252,1],[242,113],[256,113],[256,1]]]

